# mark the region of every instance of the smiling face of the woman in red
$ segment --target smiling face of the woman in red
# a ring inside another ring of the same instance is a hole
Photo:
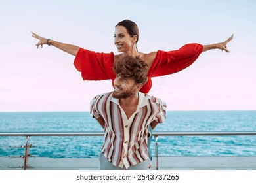
[[[123,26],[117,26],[114,33],[114,44],[118,52],[128,52],[133,49],[137,36],[131,37],[127,29]]]

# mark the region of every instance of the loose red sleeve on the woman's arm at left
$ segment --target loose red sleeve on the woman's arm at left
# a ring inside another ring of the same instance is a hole
[[[113,72],[114,53],[95,53],[80,48],[74,65],[83,80],[108,80],[116,77]]]

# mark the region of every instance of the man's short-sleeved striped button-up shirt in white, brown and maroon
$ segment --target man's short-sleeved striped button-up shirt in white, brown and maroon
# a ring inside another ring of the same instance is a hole
[[[91,115],[105,121],[102,154],[112,165],[126,169],[148,159],[148,125],[164,122],[165,110],[164,101],[139,92],[137,110],[127,119],[112,92],[97,95],[91,101]]]

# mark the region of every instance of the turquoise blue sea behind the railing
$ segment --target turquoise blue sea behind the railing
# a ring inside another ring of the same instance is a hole
[[[154,132],[256,131],[256,110],[168,111]],[[0,134],[6,132],[103,132],[89,112],[0,112]],[[30,154],[49,158],[96,158],[104,137],[37,137]],[[159,136],[158,156],[256,156],[256,136]],[[0,157],[22,156],[26,137],[0,135]],[[156,141],[152,138],[153,156]]]

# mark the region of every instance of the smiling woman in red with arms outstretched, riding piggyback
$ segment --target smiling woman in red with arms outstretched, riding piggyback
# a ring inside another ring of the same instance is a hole
[[[148,93],[152,87],[152,77],[169,75],[177,73],[182,69],[190,66],[202,52],[213,49],[220,49],[229,52],[226,44],[233,39],[233,35],[224,42],[217,44],[201,45],[201,44],[186,44],[179,50],[164,52],[150,52],[148,54],[138,52],[137,42],[139,40],[139,29],[135,22],[131,20],[123,20],[115,27],[114,44],[118,52],[121,54],[114,55],[111,53],[95,53],[89,50],[80,48],[72,44],[64,44],[62,42],[46,39],[32,32],[32,37],[39,39],[36,44],[37,48],[44,44],[54,46],[75,56],[74,65],[78,71],[81,71],[83,80],[107,80],[111,79],[112,84],[116,75],[113,72],[113,63],[116,59],[123,56],[138,57],[148,64],[148,82],[144,84],[140,92]],[[95,72],[96,71],[96,72]],[[114,86],[114,85],[113,85]],[[150,131],[156,127],[156,124],[150,126]],[[152,128],[152,129],[151,129]],[[148,139],[148,152],[151,156],[150,142]]]

